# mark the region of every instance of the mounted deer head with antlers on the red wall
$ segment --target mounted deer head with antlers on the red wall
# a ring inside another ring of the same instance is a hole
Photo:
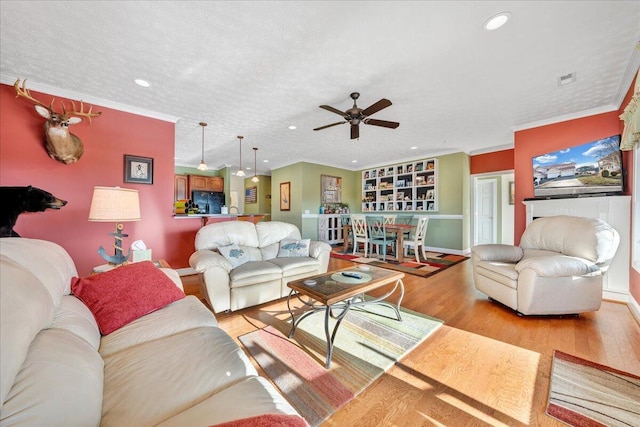
[[[44,124],[44,134],[46,140],[45,147],[49,156],[64,164],[77,162],[84,153],[84,147],[80,138],[69,132],[69,126],[80,123],[82,117],[88,118],[89,124],[91,124],[91,118],[98,117],[102,113],[91,112],[93,106],[90,106],[89,111],[85,112],[82,101],[80,101],[79,111],[76,109],[75,102],[71,101],[73,111],[67,111],[64,103],[61,101],[62,113],[56,113],[53,110],[53,102],[55,99],[52,99],[48,106],[43,104],[31,96],[29,89],[26,88],[26,84],[26,79],[22,82],[22,87],[20,87],[20,79],[16,80],[13,84],[13,88],[16,90],[16,98],[22,97],[33,102],[36,112],[47,120]]]

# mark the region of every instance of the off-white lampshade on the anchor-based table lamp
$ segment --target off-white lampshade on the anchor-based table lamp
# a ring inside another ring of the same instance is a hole
[[[120,187],[94,187],[89,221],[140,221],[138,190]]]

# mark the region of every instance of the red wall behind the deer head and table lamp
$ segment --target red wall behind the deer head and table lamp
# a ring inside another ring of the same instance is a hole
[[[46,103],[52,98],[32,94]],[[56,99],[70,105],[67,99]],[[164,258],[174,268],[188,266],[202,223],[196,218],[173,218],[173,123],[95,105],[93,111],[102,111],[101,117],[91,125],[83,121],[70,128],[83,141],[84,155],[79,162],[64,165],[52,160],[44,148],[44,119],[29,101],[16,99],[12,86],[0,85],[0,111],[0,185],[33,185],[68,202],[59,211],[20,215],[16,232],[60,244],[71,254],[78,273],[86,276],[93,266],[106,262],[97,253],[100,246],[107,253],[113,250],[108,233],[114,224],[87,220],[93,187],[133,188],[140,192],[142,220],[125,223],[129,237],[124,246],[143,240],[154,258]],[[124,183],[124,154],[154,159],[153,185]]]

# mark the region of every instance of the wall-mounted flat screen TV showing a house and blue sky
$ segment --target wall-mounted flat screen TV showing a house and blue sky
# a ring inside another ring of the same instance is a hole
[[[621,194],[620,135],[533,158],[536,198]]]

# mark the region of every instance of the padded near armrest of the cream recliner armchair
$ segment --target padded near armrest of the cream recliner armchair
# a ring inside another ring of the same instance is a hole
[[[566,255],[527,258],[516,264],[518,273],[533,270],[541,277],[587,276],[601,274],[600,268],[584,258]]]

